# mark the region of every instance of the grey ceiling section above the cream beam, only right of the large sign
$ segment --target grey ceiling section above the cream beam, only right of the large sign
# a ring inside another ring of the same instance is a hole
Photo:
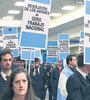
[[[51,4],[51,13],[67,13],[68,11],[64,11],[61,8],[66,5],[72,5],[76,7],[80,7],[84,4],[84,0],[52,0]]]

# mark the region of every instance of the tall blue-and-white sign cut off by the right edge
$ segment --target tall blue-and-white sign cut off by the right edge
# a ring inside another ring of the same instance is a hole
[[[84,63],[90,64],[90,0],[85,0]]]

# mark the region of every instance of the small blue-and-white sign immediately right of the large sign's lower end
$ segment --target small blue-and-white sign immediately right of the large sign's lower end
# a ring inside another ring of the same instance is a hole
[[[58,54],[57,41],[48,41],[47,46],[47,63],[56,63]]]

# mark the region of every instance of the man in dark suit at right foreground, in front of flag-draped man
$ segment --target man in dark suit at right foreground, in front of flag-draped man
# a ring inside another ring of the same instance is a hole
[[[84,64],[83,53],[78,55],[77,71],[72,74],[66,83],[66,89],[68,92],[67,100],[82,100],[82,96],[86,86],[89,82],[86,80],[86,75],[90,72],[90,65]]]

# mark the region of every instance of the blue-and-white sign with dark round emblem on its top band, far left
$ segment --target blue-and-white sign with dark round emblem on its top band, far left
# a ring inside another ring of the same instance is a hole
[[[3,28],[3,48],[10,48],[14,56],[18,56],[18,33],[17,27]]]

